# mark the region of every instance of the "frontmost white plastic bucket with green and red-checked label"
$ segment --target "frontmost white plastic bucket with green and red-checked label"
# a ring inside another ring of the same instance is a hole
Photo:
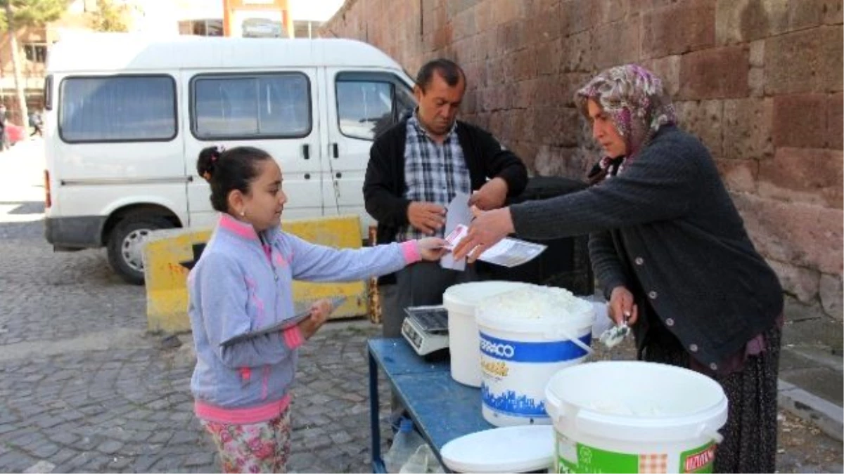
[[[711,472],[717,430],[727,423],[721,385],[665,364],[569,367],[545,396],[558,472]]]

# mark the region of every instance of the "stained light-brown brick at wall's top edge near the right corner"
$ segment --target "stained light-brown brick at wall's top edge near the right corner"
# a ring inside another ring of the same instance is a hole
[[[717,0],[719,45],[804,30],[824,20],[825,0]]]

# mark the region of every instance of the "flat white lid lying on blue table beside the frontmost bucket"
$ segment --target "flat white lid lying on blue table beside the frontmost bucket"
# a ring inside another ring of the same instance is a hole
[[[554,427],[495,428],[452,439],[442,461],[458,472],[526,472],[554,466]]]

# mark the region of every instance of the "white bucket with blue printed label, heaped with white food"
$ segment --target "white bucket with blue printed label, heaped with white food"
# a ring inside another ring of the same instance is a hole
[[[495,426],[550,424],[545,385],[591,352],[592,304],[561,288],[531,286],[479,305],[481,410]],[[527,317],[534,312],[541,317]]]

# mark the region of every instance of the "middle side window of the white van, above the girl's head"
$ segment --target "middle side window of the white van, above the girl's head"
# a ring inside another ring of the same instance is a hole
[[[311,83],[302,73],[200,75],[191,84],[200,140],[299,138],[311,133]]]

